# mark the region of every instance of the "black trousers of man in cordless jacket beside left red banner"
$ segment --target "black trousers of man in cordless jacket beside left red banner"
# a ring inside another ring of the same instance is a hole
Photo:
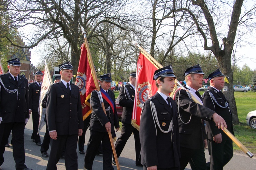
[[[77,170],[77,139],[75,135],[58,135],[57,140],[51,140],[51,153],[46,170],[57,170],[63,147],[65,147],[65,167],[68,170]]]

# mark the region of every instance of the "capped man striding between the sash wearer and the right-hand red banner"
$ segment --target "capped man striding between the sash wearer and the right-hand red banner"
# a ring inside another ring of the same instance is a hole
[[[123,86],[119,92],[119,106],[123,106],[123,113],[121,117],[122,132],[121,136],[116,141],[115,149],[117,157],[119,157],[125,147],[127,140],[133,133],[136,152],[135,165],[142,166],[139,160],[141,150],[139,131],[131,125],[131,116],[135,96],[136,72],[130,73],[129,81],[130,84]],[[112,163],[116,165],[114,157],[112,158]]]

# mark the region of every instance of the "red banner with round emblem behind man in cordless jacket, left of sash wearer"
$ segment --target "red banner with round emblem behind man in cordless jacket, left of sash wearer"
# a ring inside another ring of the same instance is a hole
[[[79,87],[81,104],[83,109],[83,120],[85,120],[91,114],[91,92],[96,89],[96,86],[94,84],[93,76],[91,74],[87,49],[84,44],[82,44],[81,46],[81,55],[75,84]]]

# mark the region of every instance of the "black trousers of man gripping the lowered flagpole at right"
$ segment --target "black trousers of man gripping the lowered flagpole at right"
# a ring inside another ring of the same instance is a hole
[[[180,164],[181,170],[189,163],[192,170],[206,170],[204,149],[189,149],[181,147]]]

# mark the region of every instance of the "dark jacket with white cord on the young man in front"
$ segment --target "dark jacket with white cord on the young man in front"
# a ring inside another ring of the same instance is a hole
[[[156,107],[157,117],[162,130],[167,131],[173,119],[173,132],[163,133],[153,119],[150,102]],[[156,92],[145,101],[140,120],[141,164],[157,168],[180,167],[180,141],[177,117],[177,105],[171,99],[172,109]],[[171,137],[173,133],[173,136]]]

